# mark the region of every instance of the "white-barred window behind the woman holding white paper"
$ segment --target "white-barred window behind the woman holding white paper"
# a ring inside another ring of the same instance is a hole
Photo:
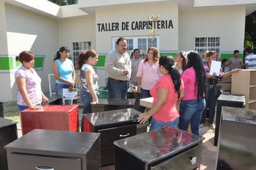
[[[196,37],[194,38],[194,50],[198,51],[205,61],[205,52],[214,50],[221,56],[221,37]],[[220,58],[219,58],[220,59]]]

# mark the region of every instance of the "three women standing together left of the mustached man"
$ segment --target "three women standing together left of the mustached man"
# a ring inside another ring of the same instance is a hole
[[[75,87],[75,68],[73,62],[68,59],[69,53],[68,47],[61,47],[53,60],[55,93],[58,97],[63,97],[63,89],[73,91]],[[19,56],[16,56],[16,61],[20,61],[22,64],[14,74],[18,88],[17,105],[19,111],[40,109],[42,101],[48,102],[48,98],[41,89],[41,78],[34,69],[34,57],[34,54],[30,51],[22,51]],[[81,51],[78,55],[77,66],[81,79],[80,99],[84,105],[83,114],[90,112],[90,104],[98,104],[98,96],[96,95],[98,91],[98,75],[93,69],[93,65],[96,65],[97,62],[98,53],[94,50]],[[71,99],[62,99],[62,104],[73,104],[73,101]],[[81,127],[83,128],[83,126]]]

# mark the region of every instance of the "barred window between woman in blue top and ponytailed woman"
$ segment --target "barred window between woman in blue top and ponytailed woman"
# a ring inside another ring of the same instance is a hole
[[[73,64],[75,70],[77,70],[76,62],[78,60],[78,55],[81,51],[87,51],[91,49],[91,42],[73,42]]]

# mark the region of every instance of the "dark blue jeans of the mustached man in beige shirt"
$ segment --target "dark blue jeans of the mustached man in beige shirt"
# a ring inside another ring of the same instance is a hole
[[[109,99],[126,99],[129,81],[108,78],[107,89],[109,90]]]

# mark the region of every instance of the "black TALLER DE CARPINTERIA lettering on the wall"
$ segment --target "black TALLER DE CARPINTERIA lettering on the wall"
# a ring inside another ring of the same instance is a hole
[[[106,22],[98,23],[98,32],[109,32],[109,31],[119,31],[119,30],[149,30],[149,25],[155,27],[155,29],[173,29],[172,20],[157,20],[153,24],[150,20],[142,21],[132,21],[132,22]]]

